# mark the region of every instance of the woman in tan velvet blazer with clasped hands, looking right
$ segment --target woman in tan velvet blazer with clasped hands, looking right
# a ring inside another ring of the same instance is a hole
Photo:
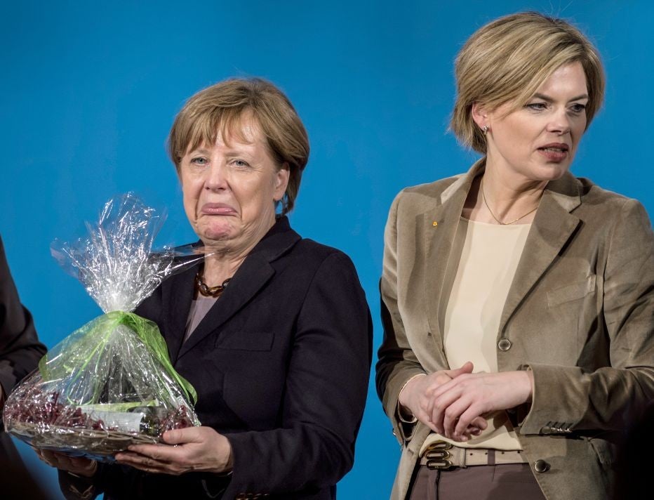
[[[654,235],[639,202],[569,173],[603,98],[596,49],[520,13],[456,61],[452,129],[483,154],[394,200],[378,393],[393,499],[605,499],[654,398]]]

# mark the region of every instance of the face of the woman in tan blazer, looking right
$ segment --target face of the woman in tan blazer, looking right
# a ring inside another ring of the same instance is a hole
[[[476,123],[488,126],[488,166],[520,181],[560,178],[573,161],[586,129],[588,90],[579,62],[562,66],[526,105],[485,112],[474,105]]]

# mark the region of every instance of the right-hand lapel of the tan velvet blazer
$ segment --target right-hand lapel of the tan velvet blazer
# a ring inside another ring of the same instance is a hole
[[[580,203],[578,181],[572,174],[547,185],[502,309],[498,336],[578,228],[580,220],[570,211]]]

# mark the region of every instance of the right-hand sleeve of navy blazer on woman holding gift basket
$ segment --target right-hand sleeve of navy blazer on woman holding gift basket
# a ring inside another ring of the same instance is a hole
[[[226,497],[335,485],[352,468],[366,403],[372,322],[352,261],[328,256],[297,320],[282,425],[226,434],[234,474]]]

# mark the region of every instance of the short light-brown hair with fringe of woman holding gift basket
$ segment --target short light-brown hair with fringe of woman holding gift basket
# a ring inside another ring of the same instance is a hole
[[[227,143],[232,135],[243,142],[246,124],[255,119],[278,169],[288,168],[288,186],[281,213],[293,209],[302,171],[309,161],[309,138],[291,101],[274,84],[260,78],[233,78],[199,91],[175,117],[168,135],[168,155],[180,173],[182,158],[202,143],[215,143],[218,133]]]

